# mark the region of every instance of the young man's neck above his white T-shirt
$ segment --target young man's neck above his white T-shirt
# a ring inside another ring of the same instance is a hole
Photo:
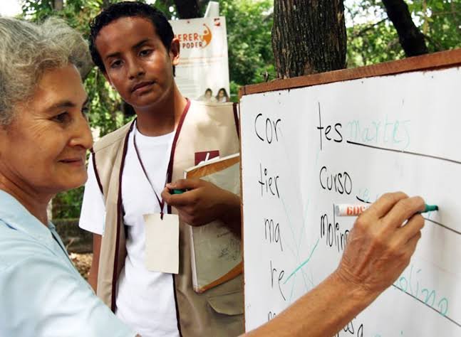
[[[155,137],[175,131],[186,105],[187,100],[174,85],[172,92],[155,105],[135,109],[139,132]]]

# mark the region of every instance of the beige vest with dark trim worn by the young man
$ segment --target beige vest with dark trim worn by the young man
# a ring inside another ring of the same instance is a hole
[[[219,156],[239,152],[237,113],[232,103],[192,102],[182,123],[173,162],[172,181],[195,165],[195,153],[219,150]],[[101,242],[98,296],[115,311],[116,282],[125,263],[125,225],[121,177],[133,122],[103,137],[94,148],[95,171],[105,198],[105,231]],[[140,173],[142,174],[142,173]],[[175,208],[172,209],[175,213]],[[242,275],[197,294],[192,289],[190,240],[180,223],[180,272],[173,277],[182,336],[238,336],[243,333]],[[152,305],[156,305],[152,303]]]

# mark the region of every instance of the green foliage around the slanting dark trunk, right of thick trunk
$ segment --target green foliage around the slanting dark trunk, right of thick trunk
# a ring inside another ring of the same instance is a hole
[[[461,0],[407,0],[429,52],[461,47]],[[405,58],[398,35],[378,0],[345,1],[348,68]]]

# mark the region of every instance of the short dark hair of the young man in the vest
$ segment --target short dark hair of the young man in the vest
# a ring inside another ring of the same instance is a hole
[[[163,46],[165,46],[168,51],[170,50],[171,41],[175,35],[173,34],[173,30],[165,14],[163,14],[155,7],[148,4],[143,4],[142,2],[119,2],[118,4],[108,6],[107,9],[104,9],[102,12],[100,12],[100,14],[95,16],[95,18],[93,18],[93,20],[90,22],[91,58],[93,58],[93,62],[101,71],[105,72],[104,63],[98,53],[98,49],[96,49],[95,46],[95,41],[100,30],[118,18],[126,18],[130,16],[147,18],[147,20],[152,22],[152,25],[155,27],[155,31],[163,43]]]

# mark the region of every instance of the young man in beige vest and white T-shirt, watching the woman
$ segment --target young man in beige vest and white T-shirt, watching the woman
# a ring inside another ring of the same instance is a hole
[[[114,4],[90,28],[93,61],[137,115],[93,147],[80,221],[94,233],[90,284],[142,336],[238,336],[242,277],[196,294],[182,221],[204,225],[219,219],[239,236],[239,197],[211,183],[180,179],[207,154],[239,151],[233,106],[182,97],[174,79],[179,41],[157,9]],[[175,183],[165,188],[170,182]],[[168,188],[188,191],[172,196]],[[181,220],[178,274],[145,267],[146,250],[155,254],[157,247],[149,246],[143,216],[170,221],[163,217],[170,206]]]

